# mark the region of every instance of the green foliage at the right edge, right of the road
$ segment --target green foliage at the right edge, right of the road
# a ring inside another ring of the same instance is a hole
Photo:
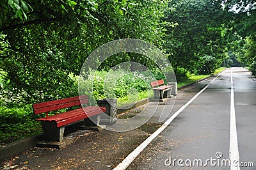
[[[237,60],[256,76],[256,3],[255,1],[227,0],[225,8],[236,12],[232,13],[232,39],[230,50]]]

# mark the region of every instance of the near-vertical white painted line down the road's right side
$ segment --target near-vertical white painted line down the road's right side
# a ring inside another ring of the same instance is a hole
[[[236,111],[234,102],[233,68],[231,70],[231,97],[230,97],[230,132],[229,132],[229,159],[231,170],[239,170],[239,151],[236,131]]]

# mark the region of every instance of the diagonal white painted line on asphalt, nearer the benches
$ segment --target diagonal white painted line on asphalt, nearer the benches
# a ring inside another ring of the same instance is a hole
[[[205,86],[204,89],[202,89],[201,91],[199,91],[193,98],[191,98],[185,105],[183,105],[182,107],[180,107],[180,109],[175,112],[171,118],[169,118],[167,121],[164,122],[164,124],[158,128],[156,130],[156,132],[154,132],[152,135],[150,135],[145,141],[143,141],[143,143],[141,143],[135,150],[133,150],[120,164],[118,164],[118,166],[116,166],[113,170],[124,170],[126,169],[131,163],[132,161],[138,157],[138,155],[141,153],[141,151],[143,151],[148,144],[153,141],[153,139],[155,139],[157,137],[157,135],[159,135],[161,132],[163,132],[163,130],[168,127],[168,125],[170,125],[170,123],[172,123],[172,121],[180,114],[180,112],[182,112],[189,104],[191,104],[191,102],[193,102],[203,91],[205,91],[205,89],[207,89],[209,87],[209,85],[215,81],[219,76],[221,75],[221,73],[215,77],[209,84],[207,84],[207,86]]]

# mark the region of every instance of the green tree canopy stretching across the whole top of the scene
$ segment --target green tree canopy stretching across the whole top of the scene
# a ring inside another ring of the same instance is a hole
[[[237,13],[230,10],[235,4],[241,7]],[[99,45],[119,38],[139,38],[166,50],[177,75],[182,69],[212,73],[227,59],[228,51],[241,62],[255,54],[244,52],[249,40],[255,42],[254,5],[235,0],[1,1],[3,84],[23,95],[28,104],[77,95],[68,75],[78,75]],[[239,50],[234,51],[237,41]],[[156,66],[145,56],[130,53],[108,58],[100,69],[124,61]]]

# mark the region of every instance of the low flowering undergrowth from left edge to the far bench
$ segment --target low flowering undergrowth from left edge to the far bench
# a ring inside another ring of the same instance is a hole
[[[149,82],[164,79],[164,75],[158,70],[152,72],[110,70],[109,72],[91,72],[86,80],[74,74],[68,75],[68,79],[74,82],[72,86],[60,89],[50,97],[45,96],[47,93],[42,91],[36,91],[35,95],[40,97],[40,102],[45,102],[51,98],[64,98],[65,95],[61,93],[69,89],[70,91],[66,95],[67,97],[72,97],[74,95],[70,94],[77,93],[78,84],[82,82],[83,93],[90,98],[93,97],[95,100],[100,98],[120,98],[118,105],[124,105],[152,96]],[[0,144],[12,143],[18,139],[42,132],[40,122],[35,121],[38,116],[33,114],[31,104],[26,104],[28,103],[26,97],[29,97],[29,94],[26,91],[13,93],[8,91],[5,86],[6,84],[3,84],[0,87]],[[89,101],[92,101],[90,98]],[[38,100],[30,100],[29,102],[36,103]],[[89,105],[93,105],[93,103]]]

